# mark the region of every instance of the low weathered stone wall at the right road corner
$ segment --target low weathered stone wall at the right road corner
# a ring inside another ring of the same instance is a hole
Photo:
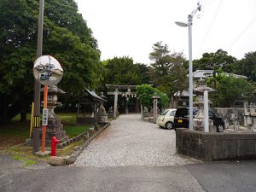
[[[177,154],[197,160],[256,160],[256,133],[176,129]]]

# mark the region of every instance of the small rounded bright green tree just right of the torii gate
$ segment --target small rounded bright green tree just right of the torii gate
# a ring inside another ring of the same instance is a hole
[[[168,96],[161,92],[157,88],[152,87],[149,84],[142,84],[137,86],[137,100],[146,108],[153,107],[152,96],[160,96],[158,107],[166,108],[169,102]]]

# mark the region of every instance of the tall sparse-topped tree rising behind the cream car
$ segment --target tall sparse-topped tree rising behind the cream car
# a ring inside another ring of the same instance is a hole
[[[166,92],[170,99],[170,107],[177,108],[183,90],[188,87],[183,53],[170,54],[168,46],[161,42],[154,44],[153,49],[154,51],[149,55],[149,59],[153,61],[151,64],[154,69],[151,73],[153,83]],[[180,94],[175,94],[177,92]]]

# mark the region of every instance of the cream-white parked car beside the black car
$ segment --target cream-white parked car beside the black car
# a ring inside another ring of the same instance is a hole
[[[176,108],[166,109],[163,113],[160,114],[160,116],[158,116],[156,119],[156,124],[168,130],[173,129],[175,112]]]

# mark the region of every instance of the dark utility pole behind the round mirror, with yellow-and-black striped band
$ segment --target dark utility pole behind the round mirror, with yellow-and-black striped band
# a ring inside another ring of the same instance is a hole
[[[37,58],[42,55],[43,47],[43,26],[44,26],[44,0],[39,2],[39,17],[38,17],[38,45]],[[34,83],[34,118],[33,118],[33,154],[39,151],[39,127],[40,127],[40,90],[41,84],[37,80]]]

